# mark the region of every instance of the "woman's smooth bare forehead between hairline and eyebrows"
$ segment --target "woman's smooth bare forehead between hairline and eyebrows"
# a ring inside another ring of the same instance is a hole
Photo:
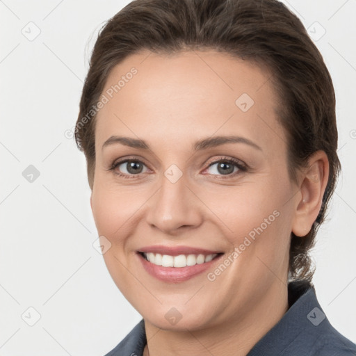
[[[134,54],[108,76],[96,143],[124,134],[172,147],[233,132],[262,146],[271,139],[281,145],[270,76],[264,67],[217,51]]]

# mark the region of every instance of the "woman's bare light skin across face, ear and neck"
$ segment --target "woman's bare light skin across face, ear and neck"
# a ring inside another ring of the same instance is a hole
[[[327,156],[316,152],[298,182],[291,181],[266,69],[213,50],[140,52],[115,66],[103,93],[131,67],[138,73],[99,111],[95,129],[90,204],[99,235],[111,243],[104,261],[145,319],[145,355],[246,355],[289,307],[290,234],[307,234],[318,215]],[[235,104],[243,93],[254,100],[246,112]],[[150,149],[120,143],[103,149],[113,135],[140,138]],[[229,135],[261,149],[245,143],[192,148],[197,140]],[[248,170],[209,167],[224,157]],[[131,173],[127,164],[108,170],[128,158],[143,162],[142,172]],[[182,174],[175,183],[164,175],[172,164]],[[224,260],[273,211],[280,215],[213,282],[207,273],[217,266],[185,282],[161,282],[136,254],[147,245],[188,245],[222,251]],[[165,318],[172,307],[181,315],[175,325]]]

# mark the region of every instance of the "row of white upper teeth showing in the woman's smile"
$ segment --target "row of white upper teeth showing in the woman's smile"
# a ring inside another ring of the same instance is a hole
[[[179,254],[179,256],[170,256],[168,254],[159,254],[148,252],[143,254],[147,261],[155,264],[156,266],[163,267],[186,267],[194,266],[195,264],[204,264],[204,262],[210,262],[218,254]]]

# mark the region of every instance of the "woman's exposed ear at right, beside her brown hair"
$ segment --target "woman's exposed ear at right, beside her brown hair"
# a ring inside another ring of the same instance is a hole
[[[308,234],[323,204],[323,195],[329,177],[329,160],[324,151],[316,151],[309,157],[308,167],[301,170],[300,194],[296,195],[296,210],[292,232],[296,236]]]

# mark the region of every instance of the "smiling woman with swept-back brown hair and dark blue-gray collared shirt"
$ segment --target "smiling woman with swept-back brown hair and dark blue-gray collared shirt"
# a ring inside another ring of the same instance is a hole
[[[143,316],[108,355],[355,355],[308,254],[340,170],[334,89],[282,3],[129,3],[75,135],[106,266]]]

